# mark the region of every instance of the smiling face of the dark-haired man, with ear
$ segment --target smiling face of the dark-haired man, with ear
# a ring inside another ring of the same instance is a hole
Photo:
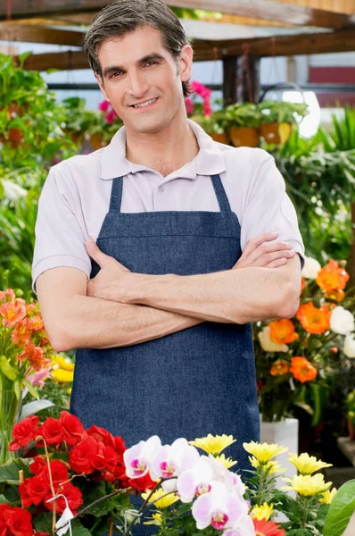
[[[184,110],[182,81],[191,76],[192,51],[185,46],[178,62],[164,47],[161,32],[144,26],[98,49],[104,96],[136,133],[158,132]]]

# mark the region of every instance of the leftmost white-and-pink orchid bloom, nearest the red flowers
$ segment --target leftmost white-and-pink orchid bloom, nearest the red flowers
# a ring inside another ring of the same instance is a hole
[[[128,478],[140,478],[148,472],[151,474],[151,460],[154,454],[161,448],[161,440],[158,436],[152,436],[149,440],[139,441],[136,445],[128,448],[123,453],[123,461],[126,465]]]

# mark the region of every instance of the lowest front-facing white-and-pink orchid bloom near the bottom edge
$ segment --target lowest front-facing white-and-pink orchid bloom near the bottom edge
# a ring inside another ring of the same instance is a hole
[[[215,483],[210,493],[203,493],[194,501],[192,513],[198,529],[211,525],[217,531],[234,528],[247,515],[245,500],[227,492],[224,484]]]

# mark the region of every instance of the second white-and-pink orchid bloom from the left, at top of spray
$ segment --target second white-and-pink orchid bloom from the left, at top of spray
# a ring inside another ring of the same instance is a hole
[[[185,438],[175,440],[171,446],[164,445],[161,447],[152,460],[151,472],[152,480],[159,478],[168,479],[173,476],[179,476],[187,469],[191,469],[198,461],[200,455],[197,448],[189,445]],[[177,481],[173,479],[163,482],[161,487],[166,491],[176,490]]]

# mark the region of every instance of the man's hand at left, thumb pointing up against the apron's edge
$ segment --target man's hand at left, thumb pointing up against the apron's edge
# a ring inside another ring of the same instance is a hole
[[[93,239],[87,239],[87,253],[101,268],[95,278],[87,282],[87,296],[124,303],[123,290],[128,288],[127,278],[132,272],[110,255],[105,255]]]

